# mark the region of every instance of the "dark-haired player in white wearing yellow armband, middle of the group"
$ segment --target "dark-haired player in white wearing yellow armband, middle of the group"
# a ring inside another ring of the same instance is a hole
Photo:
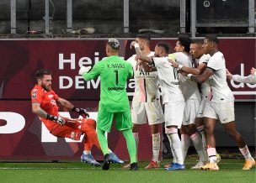
[[[175,60],[179,63],[179,71],[183,66],[186,66],[190,69],[195,67],[194,62],[192,61],[189,55],[189,46],[191,39],[187,36],[179,36],[179,39],[176,43],[174,50],[176,53],[173,53]],[[181,71],[182,73],[182,71]],[[183,125],[181,128],[181,144],[183,151],[183,158],[185,159],[187,151],[189,149],[190,139],[192,140],[197,154],[200,156],[200,164],[205,165],[207,161],[207,156],[205,155],[205,149],[203,148],[203,142],[195,127],[195,117],[200,107],[200,92],[195,81],[188,80],[187,77],[179,74],[180,89],[184,94],[185,99],[185,110],[184,110],[184,119]],[[199,165],[192,167],[194,169],[199,168]]]

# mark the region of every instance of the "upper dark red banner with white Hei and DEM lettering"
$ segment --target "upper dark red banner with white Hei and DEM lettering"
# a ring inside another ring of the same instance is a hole
[[[221,39],[220,50],[233,74],[248,76],[255,67],[255,40]],[[176,39],[152,40],[152,50],[158,41],[168,41],[173,47]],[[128,59],[134,54],[131,40],[121,40],[120,55]],[[93,65],[105,55],[105,40],[0,40],[0,98],[29,99],[35,84],[35,71],[50,69],[56,93],[68,99],[98,100],[99,78],[83,81],[78,76],[82,65]],[[228,81],[236,99],[255,99],[256,85]],[[132,95],[134,81],[127,91]]]

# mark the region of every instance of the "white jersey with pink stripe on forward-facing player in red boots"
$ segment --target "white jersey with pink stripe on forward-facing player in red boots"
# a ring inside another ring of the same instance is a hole
[[[147,56],[153,56],[151,52]],[[136,68],[136,55],[132,55],[127,61],[131,63],[135,78],[135,91],[133,102],[154,102],[159,99],[159,79],[157,71],[146,72],[143,66]]]

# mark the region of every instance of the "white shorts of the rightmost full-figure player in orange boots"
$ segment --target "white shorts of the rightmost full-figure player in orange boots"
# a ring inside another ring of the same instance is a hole
[[[204,117],[219,119],[221,123],[235,121],[234,101],[205,103]]]

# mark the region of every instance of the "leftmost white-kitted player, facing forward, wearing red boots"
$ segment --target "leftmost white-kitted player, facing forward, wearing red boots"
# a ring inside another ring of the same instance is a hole
[[[140,45],[143,55],[153,56],[150,50],[150,37],[148,34],[139,34],[136,43]],[[131,63],[135,78],[135,92],[131,107],[131,121],[133,123],[132,133],[136,141],[136,149],[139,144],[139,129],[141,124],[150,125],[152,133],[152,161],[145,169],[158,168],[158,158],[160,151],[161,137],[159,133],[159,123],[163,123],[163,109],[160,103],[159,79],[157,70],[145,71],[143,65],[137,65],[136,55],[132,55],[128,60]],[[128,167],[130,165],[126,165]]]

